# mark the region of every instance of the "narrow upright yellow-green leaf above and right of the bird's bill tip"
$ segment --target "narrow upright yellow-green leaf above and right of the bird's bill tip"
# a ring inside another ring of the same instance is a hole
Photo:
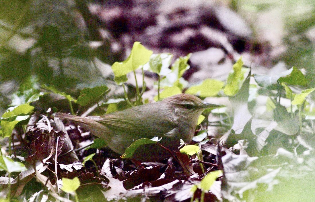
[[[227,77],[226,86],[223,91],[227,96],[233,96],[238,93],[239,89],[246,78],[245,74],[248,74],[249,69],[243,68],[242,57],[233,65],[233,68]]]

